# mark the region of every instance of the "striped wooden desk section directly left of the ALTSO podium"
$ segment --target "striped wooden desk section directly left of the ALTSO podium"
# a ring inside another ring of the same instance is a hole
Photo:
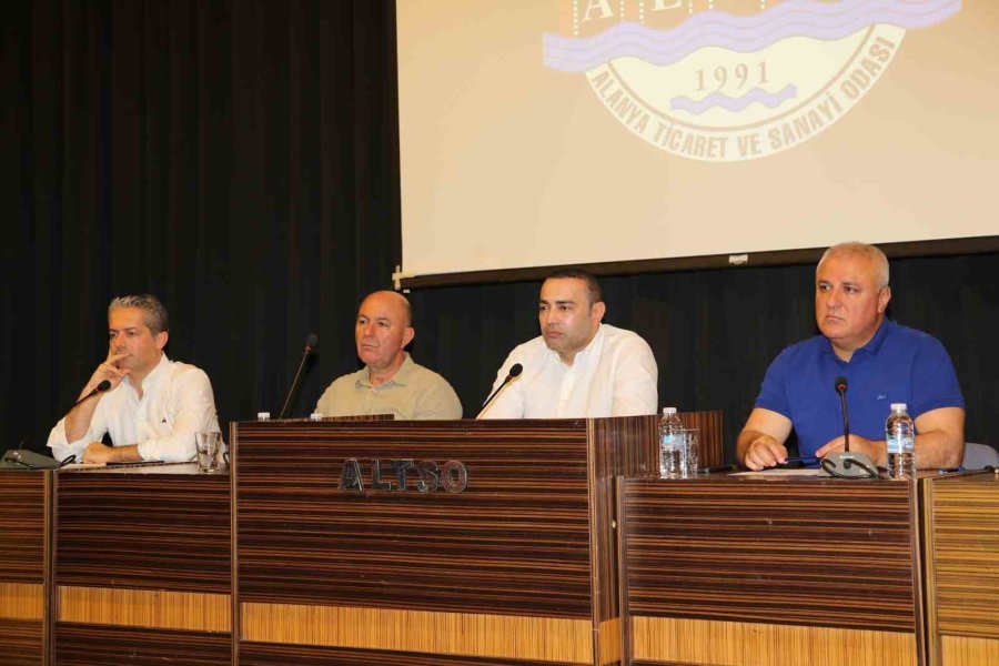
[[[228,473],[59,472],[54,663],[232,663]]]

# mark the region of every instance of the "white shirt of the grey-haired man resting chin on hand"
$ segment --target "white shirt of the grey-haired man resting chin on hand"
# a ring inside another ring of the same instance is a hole
[[[72,454],[80,461],[87,445],[107,433],[115,446],[138,444],[144,461],[175,463],[194,460],[196,432],[220,432],[212,384],[200,367],[163,354],[142,380],[141,400],[124,377],[100,396],[83,437],[67,442],[63,417],[49,434],[49,447],[57,460]]]

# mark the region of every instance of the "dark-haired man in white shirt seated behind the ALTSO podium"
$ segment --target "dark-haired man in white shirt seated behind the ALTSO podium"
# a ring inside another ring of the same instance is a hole
[[[541,289],[542,334],[506,357],[493,391],[511,381],[481,418],[575,418],[655,414],[656,360],[632,331],[602,324],[606,305],[589,273],[563,269]]]

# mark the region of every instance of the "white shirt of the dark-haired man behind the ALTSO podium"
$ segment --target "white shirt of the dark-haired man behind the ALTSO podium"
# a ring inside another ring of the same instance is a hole
[[[544,336],[518,345],[496,373],[495,391],[511,366],[511,381],[480,418],[577,418],[655,414],[658,370],[639,335],[601,324],[589,344],[567,365]]]

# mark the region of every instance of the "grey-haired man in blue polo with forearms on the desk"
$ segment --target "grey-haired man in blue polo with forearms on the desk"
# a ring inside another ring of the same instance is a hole
[[[815,272],[815,319],[821,335],[799,342],[770,364],[756,407],[736,443],[750,470],[787,460],[791,428],[801,456],[844,450],[836,380],[844,376],[850,451],[887,463],[885,420],[906,403],[916,421],[919,467],[956,467],[965,438],[965,402],[950,356],[926,333],[885,316],[891,299],[888,260],[872,245],[829,248]]]

